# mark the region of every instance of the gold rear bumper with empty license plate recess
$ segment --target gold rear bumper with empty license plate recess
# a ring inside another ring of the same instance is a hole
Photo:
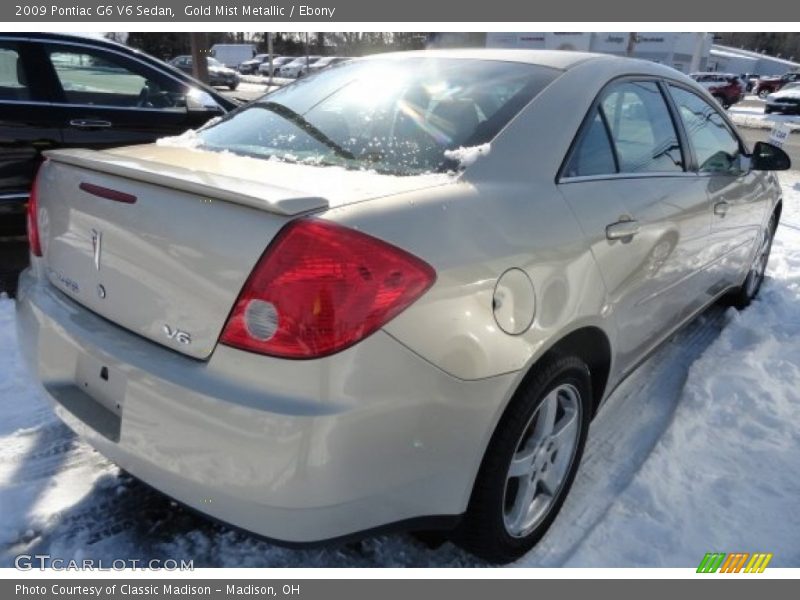
[[[87,311],[36,268],[17,303],[31,372],[67,425],[156,489],[293,543],[465,510],[513,374],[464,382],[384,332],[321,360],[219,346],[198,361]]]

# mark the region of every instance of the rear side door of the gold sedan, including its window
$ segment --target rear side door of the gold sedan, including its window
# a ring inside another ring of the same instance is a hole
[[[603,273],[623,369],[705,301],[708,198],[686,164],[660,85],[623,80],[599,96],[562,173]]]

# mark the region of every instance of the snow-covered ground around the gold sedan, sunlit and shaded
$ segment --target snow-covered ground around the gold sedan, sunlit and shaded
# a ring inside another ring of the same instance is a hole
[[[800,173],[782,182],[760,300],[710,308],[614,393],[561,515],[519,566],[694,567],[710,551],[800,565]],[[13,321],[0,299],[0,566],[21,552],[197,567],[480,564],[408,535],[287,550],[174,505],[51,414]]]

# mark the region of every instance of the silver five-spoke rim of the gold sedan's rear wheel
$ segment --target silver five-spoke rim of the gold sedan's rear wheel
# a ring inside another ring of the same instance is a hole
[[[578,390],[562,384],[545,396],[517,443],[506,474],[503,523],[525,537],[550,512],[570,472],[581,423]]]

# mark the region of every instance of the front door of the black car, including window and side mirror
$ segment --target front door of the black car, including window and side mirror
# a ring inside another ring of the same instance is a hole
[[[90,44],[42,48],[56,82],[54,113],[67,147],[149,143],[213,116],[187,109],[184,83],[124,53]]]

